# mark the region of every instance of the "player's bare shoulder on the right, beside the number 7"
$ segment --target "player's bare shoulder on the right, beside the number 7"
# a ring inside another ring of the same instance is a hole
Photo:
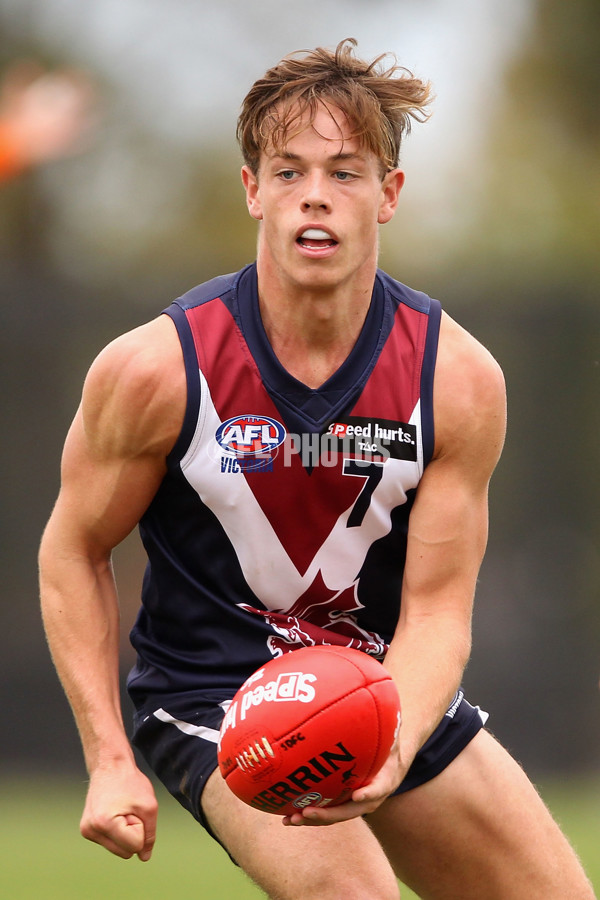
[[[434,382],[436,457],[460,453],[493,468],[506,431],[506,388],[492,354],[444,314]]]

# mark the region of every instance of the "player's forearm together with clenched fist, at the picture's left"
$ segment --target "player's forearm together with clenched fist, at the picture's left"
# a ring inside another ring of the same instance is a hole
[[[51,519],[40,549],[44,626],[90,774],[81,833],[147,860],[156,835],[152,784],[137,768],[121,714],[119,609],[110,558],[75,550]]]

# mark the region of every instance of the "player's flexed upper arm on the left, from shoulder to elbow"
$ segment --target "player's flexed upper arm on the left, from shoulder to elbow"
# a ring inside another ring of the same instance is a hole
[[[46,543],[104,558],[135,528],[166,472],[185,397],[181,349],[166,317],[100,354],[65,442]]]

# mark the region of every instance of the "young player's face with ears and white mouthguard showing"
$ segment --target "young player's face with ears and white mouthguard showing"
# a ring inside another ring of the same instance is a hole
[[[315,120],[284,150],[267,148],[258,176],[244,166],[250,214],[260,221],[259,275],[281,289],[372,287],[378,226],[394,215],[404,175],[383,180],[345,115],[319,105]]]

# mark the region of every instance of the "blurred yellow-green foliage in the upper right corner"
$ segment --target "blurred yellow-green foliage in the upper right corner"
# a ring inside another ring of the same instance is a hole
[[[496,269],[600,283],[599,46],[598,0],[538,0],[490,135],[475,240]]]

